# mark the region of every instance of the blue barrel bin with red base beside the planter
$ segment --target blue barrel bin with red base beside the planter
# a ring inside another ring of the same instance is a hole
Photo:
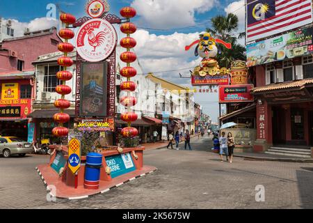
[[[99,153],[88,153],[85,168],[85,182],[83,184],[86,189],[99,189],[101,167],[102,155]]]

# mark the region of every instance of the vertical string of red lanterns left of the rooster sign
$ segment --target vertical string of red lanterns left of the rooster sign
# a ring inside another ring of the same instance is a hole
[[[67,53],[73,52],[74,46],[71,43],[68,43],[68,40],[74,38],[75,34],[72,30],[69,29],[70,24],[76,22],[76,18],[70,14],[62,14],[60,19],[65,23],[66,28],[61,29],[58,32],[59,36],[65,40],[65,43],[60,43],[58,45],[58,50],[64,53],[64,56],[61,56],[58,59],[58,65],[63,66],[63,70],[56,74],[56,77],[61,80],[62,84],[56,86],[56,93],[61,95],[61,99],[54,102],[54,106],[61,110],[61,112],[54,114],[53,118],[56,123],[59,123],[58,127],[52,130],[52,134],[56,137],[65,137],[68,134],[68,129],[63,125],[70,121],[70,115],[64,113],[64,109],[67,109],[71,106],[71,103],[68,100],[65,100],[65,95],[68,95],[72,92],[70,86],[65,84],[66,81],[72,79],[72,72],[67,71],[67,67],[70,67],[74,64],[74,61],[67,56]]]

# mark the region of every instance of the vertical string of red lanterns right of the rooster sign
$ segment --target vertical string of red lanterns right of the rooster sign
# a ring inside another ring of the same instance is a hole
[[[137,85],[134,82],[131,82],[131,77],[137,75],[137,70],[130,66],[130,63],[133,63],[137,59],[136,54],[130,52],[130,49],[136,47],[137,44],[136,40],[130,37],[130,34],[135,33],[137,30],[136,25],[130,22],[130,19],[136,16],[136,10],[131,7],[125,7],[120,10],[120,15],[127,19],[127,22],[120,26],[120,31],[127,34],[127,37],[120,40],[120,46],[127,49],[126,52],[120,54],[120,60],[127,63],[127,66],[120,70],[120,75],[127,78],[127,82],[122,82],[120,86],[122,91],[127,91],[127,96],[120,98],[120,103],[125,107],[128,107],[128,111],[121,115],[122,121],[127,122],[128,127],[123,128],[121,134],[123,137],[136,137],[138,135],[138,130],[132,128],[131,123],[138,119],[138,115],[130,110],[130,107],[137,103],[137,98],[130,94],[137,88]]]

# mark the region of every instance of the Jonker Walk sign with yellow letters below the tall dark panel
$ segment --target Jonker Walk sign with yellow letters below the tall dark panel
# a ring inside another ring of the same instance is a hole
[[[75,118],[77,130],[88,132],[114,131],[114,118]]]

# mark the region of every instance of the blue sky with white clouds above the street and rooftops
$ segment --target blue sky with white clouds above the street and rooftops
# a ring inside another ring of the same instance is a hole
[[[86,15],[86,0],[0,0],[0,17],[17,20],[23,27],[47,29],[49,22],[45,17],[49,3],[58,4],[61,10],[76,17]],[[199,33],[210,26],[211,17],[234,12],[239,16],[239,31],[243,31],[244,0],[109,0],[109,4],[110,13],[115,15],[119,15],[120,8],[124,6],[136,8],[138,16],[133,22],[139,29],[134,36],[138,42],[135,50],[143,72],[157,72],[157,76],[183,86],[190,86],[190,81],[180,79],[179,72],[186,76],[193,69],[159,71],[198,66],[200,60],[193,55],[194,49],[185,52],[184,46],[198,39]],[[36,20],[38,18],[42,20]],[[202,89],[207,89],[207,86]],[[217,93],[197,93],[195,100],[204,102],[204,112],[217,121]]]

